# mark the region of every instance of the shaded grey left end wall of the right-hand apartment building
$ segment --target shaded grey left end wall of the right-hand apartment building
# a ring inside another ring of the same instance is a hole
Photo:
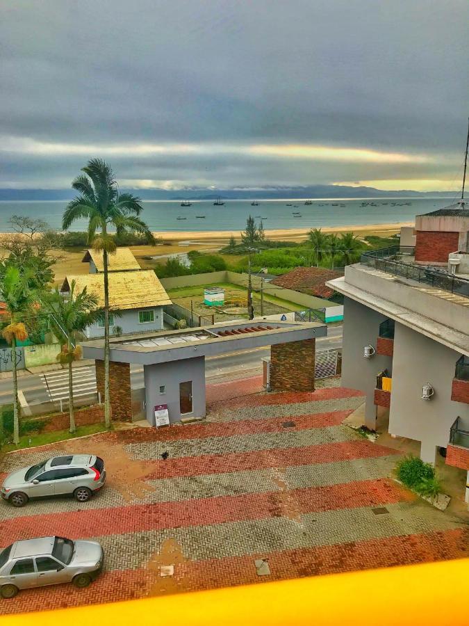
[[[344,324],[342,341],[342,384],[359,389],[366,394],[365,424],[375,430],[374,404],[376,377],[380,371],[393,371],[393,358],[375,354],[363,358],[363,348],[371,344],[376,349],[379,324],[386,316],[365,307],[350,298],[344,299]]]

